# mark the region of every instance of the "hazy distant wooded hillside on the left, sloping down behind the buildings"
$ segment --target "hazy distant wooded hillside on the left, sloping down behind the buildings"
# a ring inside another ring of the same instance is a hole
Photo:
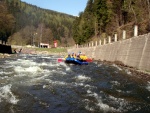
[[[61,46],[74,44],[71,32],[74,16],[41,9],[20,0],[0,2],[1,40],[16,45],[38,46],[40,42],[53,44],[54,40]]]

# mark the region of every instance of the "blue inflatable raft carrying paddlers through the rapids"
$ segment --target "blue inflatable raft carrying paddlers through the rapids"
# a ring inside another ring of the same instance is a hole
[[[79,64],[79,65],[88,65],[88,62],[78,60],[75,58],[66,58],[65,63]]]

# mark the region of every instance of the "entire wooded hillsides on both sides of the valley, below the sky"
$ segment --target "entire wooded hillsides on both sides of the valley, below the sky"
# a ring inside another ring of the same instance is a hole
[[[150,0],[87,0],[79,17],[41,9],[20,0],[0,0],[0,40],[15,45],[40,42],[59,46],[84,44],[91,40],[133,36],[134,25],[139,35],[150,32]],[[8,39],[9,38],[9,39]]]

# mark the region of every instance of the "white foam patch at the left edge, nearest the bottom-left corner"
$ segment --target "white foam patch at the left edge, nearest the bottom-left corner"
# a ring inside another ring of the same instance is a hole
[[[3,100],[12,103],[12,104],[17,104],[19,101],[16,99],[15,95],[11,92],[11,84],[3,86],[0,88],[0,102]]]

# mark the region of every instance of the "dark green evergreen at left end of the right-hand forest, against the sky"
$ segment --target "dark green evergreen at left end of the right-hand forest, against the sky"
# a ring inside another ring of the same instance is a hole
[[[81,12],[73,24],[73,38],[76,43],[88,42],[94,33],[93,0],[88,0],[84,13]]]

